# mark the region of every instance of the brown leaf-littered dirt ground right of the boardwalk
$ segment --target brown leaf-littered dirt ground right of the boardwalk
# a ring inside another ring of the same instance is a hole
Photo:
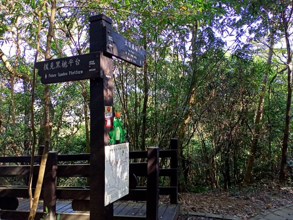
[[[181,211],[227,215],[247,220],[266,209],[292,203],[293,187],[263,183],[259,186],[236,188],[226,192],[180,193],[179,200]],[[178,220],[208,219],[180,215]]]

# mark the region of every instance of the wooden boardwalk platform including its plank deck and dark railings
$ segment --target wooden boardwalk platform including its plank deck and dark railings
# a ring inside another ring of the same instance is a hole
[[[42,156],[35,156],[35,162],[39,163]],[[166,168],[160,168],[159,158],[163,158],[168,164]],[[113,204],[114,218],[112,213],[102,219],[113,220],[177,220],[180,212],[178,202],[178,140],[171,139],[170,150],[159,150],[157,147],[150,147],[147,151],[129,152],[129,194]],[[30,166],[18,165],[19,163],[30,162],[30,156],[0,156],[0,163],[16,163],[16,165],[0,166],[0,177],[25,177],[29,176]],[[90,164],[57,164],[67,161],[89,161],[89,154],[65,154],[58,155],[57,152],[49,152],[47,160],[47,171],[44,177],[43,189],[40,195],[42,201],[39,203],[35,220],[43,218],[43,206],[48,208],[51,216],[60,217],[60,220],[99,220],[103,210],[97,212],[100,198],[90,196],[97,193],[90,191],[89,187],[60,187],[56,184],[57,177],[89,177]],[[135,162],[136,161],[136,162]],[[139,162],[137,162],[139,161]],[[146,162],[145,162],[146,161]],[[80,162],[78,162],[80,163]],[[87,163],[87,162],[86,162]],[[39,165],[34,166],[34,175],[39,174]],[[58,172],[57,172],[58,167]],[[54,175],[53,175],[54,174]],[[58,174],[58,175],[57,175]],[[143,186],[137,186],[137,177],[143,177],[146,182]],[[160,178],[167,181],[159,186]],[[161,204],[159,195],[168,196],[168,202]],[[100,195],[100,197],[104,195]],[[27,187],[5,186],[0,187],[0,220],[27,220],[29,215]],[[17,198],[21,198],[18,200]],[[26,198],[26,199],[25,199]],[[129,202],[134,201],[134,202]],[[55,206],[57,202],[57,207]],[[170,203],[170,204],[168,204]],[[147,208],[146,208],[147,206]],[[72,208],[73,207],[73,208]],[[17,210],[13,210],[16,209]],[[101,207],[100,207],[101,208]],[[7,210],[10,209],[10,210]],[[73,211],[80,210],[80,211]],[[97,214],[98,213],[98,214]],[[52,219],[52,218],[51,218]]]

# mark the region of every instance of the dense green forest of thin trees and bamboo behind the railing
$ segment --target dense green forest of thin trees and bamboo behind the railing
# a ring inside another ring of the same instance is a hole
[[[1,156],[89,151],[89,82],[46,89],[34,62],[88,53],[96,14],[147,51],[114,60],[131,150],[178,138],[183,191],[293,183],[292,0],[0,0]]]

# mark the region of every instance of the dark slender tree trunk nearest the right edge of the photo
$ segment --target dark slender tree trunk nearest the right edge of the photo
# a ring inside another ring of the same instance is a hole
[[[284,129],[284,137],[282,142],[282,160],[281,160],[281,169],[280,169],[280,176],[279,180],[281,184],[285,184],[286,182],[286,165],[287,165],[287,149],[288,149],[288,142],[289,142],[289,128],[290,128],[290,114],[291,114],[291,102],[292,102],[292,51],[291,51],[291,44],[290,44],[290,18],[287,21],[285,18],[286,16],[286,9],[283,10],[282,13],[282,22],[284,27],[285,33],[285,40],[286,40],[286,47],[287,47],[287,105],[286,105],[286,115],[285,115],[285,129]],[[291,5],[291,15],[293,12],[293,5]]]

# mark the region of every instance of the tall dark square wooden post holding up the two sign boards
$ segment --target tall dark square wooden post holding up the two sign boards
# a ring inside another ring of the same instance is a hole
[[[104,15],[90,17],[90,52],[103,51],[103,31],[111,28]],[[113,61],[100,53],[102,78],[90,80],[90,220],[113,220],[113,203],[105,206],[105,146],[109,145],[110,127],[105,123],[105,108],[113,106]]]

